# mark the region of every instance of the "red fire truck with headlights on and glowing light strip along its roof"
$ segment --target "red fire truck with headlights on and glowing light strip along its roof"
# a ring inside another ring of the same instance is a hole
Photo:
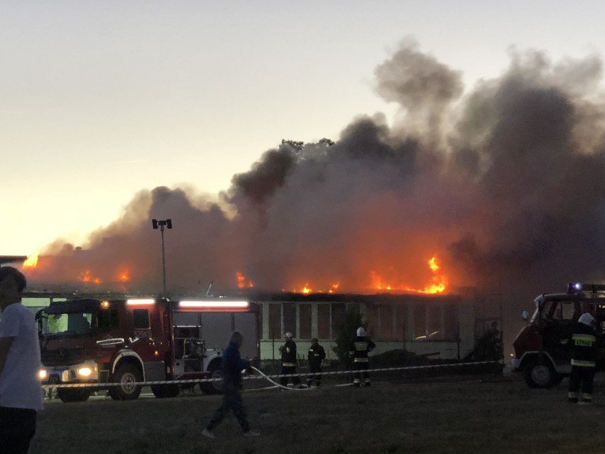
[[[222,348],[231,331],[244,333],[243,357],[258,359],[258,306],[226,298],[170,301],[166,298],[53,301],[38,310],[43,384],[58,387],[64,402],[85,401],[106,386],[115,400],[136,399],[141,385],[185,379],[220,378]],[[200,384],[219,392],[220,382]],[[192,385],[190,385],[192,386]],[[174,397],[179,384],[151,386],[156,397]]]

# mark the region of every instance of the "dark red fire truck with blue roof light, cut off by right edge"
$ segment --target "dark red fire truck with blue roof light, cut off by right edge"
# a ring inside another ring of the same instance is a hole
[[[605,370],[605,285],[569,283],[565,293],[543,293],[534,300],[528,325],[513,341],[513,371],[523,372],[531,388],[550,388],[571,372],[571,337],[582,313],[596,320],[596,371]],[[527,320],[529,314],[523,311]]]

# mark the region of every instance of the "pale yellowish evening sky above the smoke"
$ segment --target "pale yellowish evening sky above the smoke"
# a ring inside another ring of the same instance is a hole
[[[603,1],[4,0],[0,255],[74,244],[159,185],[229,188],[281,139],[337,140],[396,107],[404,38],[467,89],[508,50],[603,58]]]

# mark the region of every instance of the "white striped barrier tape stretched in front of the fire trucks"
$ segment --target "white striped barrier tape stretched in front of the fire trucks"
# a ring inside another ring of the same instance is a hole
[[[456,362],[452,364],[430,364],[425,366],[405,366],[405,367],[383,367],[380,369],[367,369],[361,370],[359,372],[391,372],[391,371],[405,371],[405,370],[419,370],[419,369],[437,369],[437,368],[447,368],[447,367],[463,367],[463,366],[474,366],[479,364],[498,364],[498,361],[476,361],[476,362]],[[288,390],[292,390],[288,387],[283,387],[281,384],[274,382],[272,379],[283,378],[283,377],[307,377],[307,376],[315,376],[316,374],[313,372],[303,372],[300,374],[275,374],[275,375],[266,375],[260,370],[256,369],[256,367],[252,367],[252,369],[256,370],[260,375],[246,375],[241,377],[244,380],[259,380],[266,379],[269,382],[277,385],[278,387],[285,388]],[[358,372],[356,370],[345,370],[345,371],[334,371],[334,372],[322,372],[322,376],[325,375],[344,375],[344,374],[354,374]],[[163,384],[197,384],[197,383],[209,383],[209,382],[220,382],[222,378],[210,378],[210,379],[186,379],[186,380],[160,380],[153,382],[111,382],[111,383],[69,383],[69,384],[42,384],[43,389],[48,388],[89,388],[89,389],[103,389],[109,387],[148,387],[155,385],[163,385]],[[296,389],[299,391],[299,389]],[[305,391],[306,389],[300,389],[300,391]]]

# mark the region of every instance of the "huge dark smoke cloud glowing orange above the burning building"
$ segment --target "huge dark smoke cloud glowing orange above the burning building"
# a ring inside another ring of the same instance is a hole
[[[601,75],[592,56],[553,63],[513,49],[501,77],[465,91],[461,72],[404,42],[376,67],[376,92],[400,107],[392,126],[376,114],[354,119],[334,141],[283,141],[216,198],[143,190],[82,250],[50,245],[33,276],[77,281],[89,270],[133,291],[160,291],[151,219],[170,218],[174,293],[210,281],[234,289],[238,272],[244,285],[267,291],[367,292],[377,281],[424,288],[432,256],[451,291],[533,295],[601,282]]]

